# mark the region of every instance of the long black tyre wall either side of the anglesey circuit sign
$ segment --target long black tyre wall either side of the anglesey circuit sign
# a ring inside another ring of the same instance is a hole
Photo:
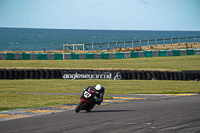
[[[63,79],[63,72],[121,73],[122,80],[200,80],[197,71],[130,71],[130,70],[66,70],[66,69],[0,69],[0,79]]]

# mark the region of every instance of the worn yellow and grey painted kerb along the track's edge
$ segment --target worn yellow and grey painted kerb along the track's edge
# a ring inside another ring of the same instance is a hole
[[[41,93],[42,94],[42,93]],[[46,94],[46,93],[44,93]],[[67,94],[66,94],[67,95]],[[127,94],[127,95],[110,95],[112,99],[106,99],[101,104],[118,104],[126,103],[138,100],[148,100],[148,99],[159,99],[159,98],[170,98],[170,97],[180,97],[180,96],[194,96],[199,94]],[[16,109],[11,111],[0,112],[0,121],[7,121],[19,118],[34,117],[38,115],[46,115],[51,113],[58,113],[64,111],[74,110],[77,104],[62,104],[48,107],[40,108],[27,108],[27,109]],[[81,112],[85,112],[84,110]]]

